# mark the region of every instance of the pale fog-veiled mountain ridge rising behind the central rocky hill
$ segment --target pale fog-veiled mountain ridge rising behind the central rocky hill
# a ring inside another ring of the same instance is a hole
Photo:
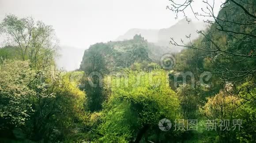
[[[181,48],[175,48],[173,45],[170,45],[169,41],[171,37],[173,37],[177,43],[181,43],[181,39],[184,40],[184,42],[188,42],[189,40],[186,36],[190,35],[192,40],[196,39],[198,37],[196,30],[203,30],[206,27],[207,26],[203,23],[194,21],[188,23],[186,19],[182,19],[175,25],[165,29],[130,29],[124,35],[119,36],[115,41],[132,39],[134,35],[140,34],[147,39],[148,42],[166,47],[165,50],[169,50],[169,52],[179,52]]]

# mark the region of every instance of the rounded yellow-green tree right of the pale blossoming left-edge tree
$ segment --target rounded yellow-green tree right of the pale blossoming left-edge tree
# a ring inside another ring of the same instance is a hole
[[[80,74],[83,75],[83,72]],[[33,140],[63,140],[72,136],[74,128],[84,120],[86,97],[79,90],[72,73],[60,73],[54,68],[39,71],[30,84],[36,96],[34,114],[27,123]],[[65,135],[68,132],[68,136]]]

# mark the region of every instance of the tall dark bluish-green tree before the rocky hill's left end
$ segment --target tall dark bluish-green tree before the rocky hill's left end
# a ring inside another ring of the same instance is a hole
[[[83,89],[87,93],[87,106],[89,111],[99,111],[105,96],[102,93],[102,78],[108,73],[108,63],[105,56],[109,52],[109,46],[104,43],[97,43],[90,46],[84,52],[80,70],[85,72],[83,77]],[[95,86],[93,86],[95,84]]]

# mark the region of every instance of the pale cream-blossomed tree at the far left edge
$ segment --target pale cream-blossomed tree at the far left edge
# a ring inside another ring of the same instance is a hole
[[[28,85],[34,75],[27,61],[5,60],[0,64],[0,129],[20,127],[30,118],[30,99],[36,93]]]

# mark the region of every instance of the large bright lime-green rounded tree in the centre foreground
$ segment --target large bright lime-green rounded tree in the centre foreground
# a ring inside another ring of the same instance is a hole
[[[167,73],[127,71],[127,77],[105,78],[109,99],[104,104],[100,141],[112,142],[135,139],[137,132],[149,126],[150,133],[157,132],[162,118],[174,120],[178,115],[179,102],[169,88]],[[139,76],[138,76],[139,75]],[[152,135],[152,134],[150,134]]]

